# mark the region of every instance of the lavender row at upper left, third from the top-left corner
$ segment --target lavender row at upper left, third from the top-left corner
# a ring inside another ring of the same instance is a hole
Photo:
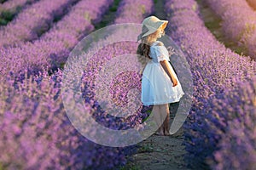
[[[91,20],[101,18],[112,2],[105,3],[103,0],[98,3],[81,1],[38,40],[24,42],[18,47],[0,48],[1,77],[6,77],[9,71],[16,75],[24,73],[25,69],[36,73],[44,67],[57,68],[56,63],[67,59],[79,38],[94,29]]]

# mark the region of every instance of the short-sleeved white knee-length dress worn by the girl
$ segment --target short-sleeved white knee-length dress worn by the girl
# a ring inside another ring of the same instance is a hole
[[[170,61],[170,59],[166,47],[156,45],[158,42],[159,41],[154,42],[150,47],[149,56],[153,59],[148,61],[143,71],[141,98],[143,105],[175,103],[178,102],[184,94],[172,65],[167,62],[171,68],[172,74],[177,79],[177,86],[175,87],[172,87],[172,80],[167,75],[162,65],[160,65],[161,60],[166,59]]]

